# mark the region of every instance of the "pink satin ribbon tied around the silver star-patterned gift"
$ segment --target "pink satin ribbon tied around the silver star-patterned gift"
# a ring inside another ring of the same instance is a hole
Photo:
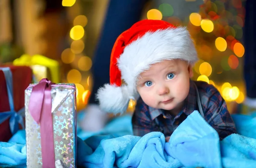
[[[42,79],[32,88],[29,100],[29,112],[35,122],[40,124],[43,168],[55,168],[51,97],[53,84],[47,78]]]

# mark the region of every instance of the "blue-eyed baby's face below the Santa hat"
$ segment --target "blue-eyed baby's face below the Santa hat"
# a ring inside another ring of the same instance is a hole
[[[165,60],[140,74],[137,91],[148,106],[173,110],[188,96],[192,76],[192,67],[186,61]]]

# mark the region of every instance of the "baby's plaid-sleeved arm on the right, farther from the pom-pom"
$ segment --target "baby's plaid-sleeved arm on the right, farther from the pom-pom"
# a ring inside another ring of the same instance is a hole
[[[218,90],[212,88],[212,96],[207,100],[205,119],[218,132],[220,139],[224,139],[232,133],[236,133],[236,127],[230,113],[227,110],[227,104],[221,97]],[[216,113],[216,114],[214,114]]]

